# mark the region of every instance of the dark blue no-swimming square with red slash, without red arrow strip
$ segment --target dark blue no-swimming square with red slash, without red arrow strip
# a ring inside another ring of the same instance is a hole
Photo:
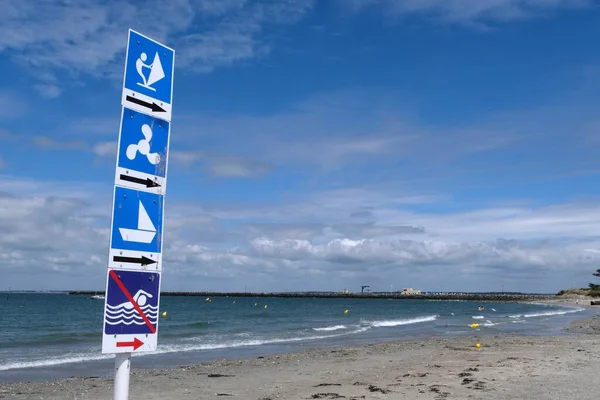
[[[104,310],[106,335],[157,332],[160,274],[110,270]]]

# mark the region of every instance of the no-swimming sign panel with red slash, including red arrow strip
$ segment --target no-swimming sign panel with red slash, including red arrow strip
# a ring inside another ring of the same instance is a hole
[[[160,273],[108,270],[102,353],[156,350]]]

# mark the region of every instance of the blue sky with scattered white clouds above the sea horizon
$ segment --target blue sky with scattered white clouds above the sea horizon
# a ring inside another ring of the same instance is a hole
[[[165,290],[586,286],[599,6],[2,5],[3,284],[104,287],[132,28],[177,52]]]

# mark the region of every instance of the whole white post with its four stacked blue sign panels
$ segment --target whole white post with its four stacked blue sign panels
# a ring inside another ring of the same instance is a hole
[[[175,50],[130,29],[104,302],[102,353],[128,400],[132,353],[155,351]]]

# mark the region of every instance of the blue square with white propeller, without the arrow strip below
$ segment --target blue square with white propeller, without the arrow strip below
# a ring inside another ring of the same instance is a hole
[[[169,122],[125,108],[117,167],[165,177]]]

